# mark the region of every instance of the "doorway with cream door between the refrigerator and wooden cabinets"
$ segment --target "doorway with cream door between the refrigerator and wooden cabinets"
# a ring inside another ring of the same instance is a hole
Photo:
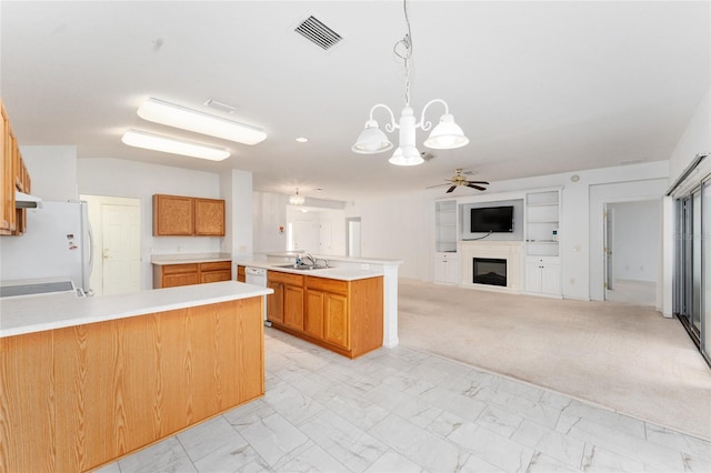
[[[93,230],[93,270],[89,279],[94,295],[141,290],[141,200],[81,195],[89,205]]]

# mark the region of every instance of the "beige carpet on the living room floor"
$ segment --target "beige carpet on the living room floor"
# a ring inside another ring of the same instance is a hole
[[[675,319],[400,280],[400,343],[711,440],[711,369]]]

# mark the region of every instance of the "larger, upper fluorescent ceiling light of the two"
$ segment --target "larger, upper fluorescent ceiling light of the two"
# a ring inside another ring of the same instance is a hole
[[[143,120],[243,144],[257,144],[267,138],[267,133],[258,128],[152,98],[138,109],[138,115]]]

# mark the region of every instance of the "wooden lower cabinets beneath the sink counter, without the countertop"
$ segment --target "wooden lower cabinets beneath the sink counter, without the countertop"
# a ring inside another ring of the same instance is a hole
[[[300,278],[302,288],[280,282],[284,275]],[[269,271],[268,281],[274,290],[267,300],[274,328],[349,358],[382,345],[382,276],[341,281]]]

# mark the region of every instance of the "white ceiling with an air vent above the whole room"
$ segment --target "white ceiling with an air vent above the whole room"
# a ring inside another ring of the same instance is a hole
[[[415,114],[444,99],[471,142],[427,150],[420,131],[420,151],[434,158],[400,168],[388,163],[391,152],[350,151],[373,104],[398,114],[404,104],[393,54],[407,31],[400,1],[2,1],[0,9],[2,100],[20,144],[241,169],[253,172],[254,190],[299,187],[320,199],[419,191],[455,168],[500,181],[665,160],[711,83],[709,1],[413,1]],[[297,34],[309,14],[343,41],[324,52]],[[136,110],[148,97],[263,128],[268,138],[249,147],[142,121]],[[209,98],[239,110],[210,109]],[[428,118],[440,113],[434,107]],[[216,163],[140,151],[121,143],[130,128],[232,157]]]

